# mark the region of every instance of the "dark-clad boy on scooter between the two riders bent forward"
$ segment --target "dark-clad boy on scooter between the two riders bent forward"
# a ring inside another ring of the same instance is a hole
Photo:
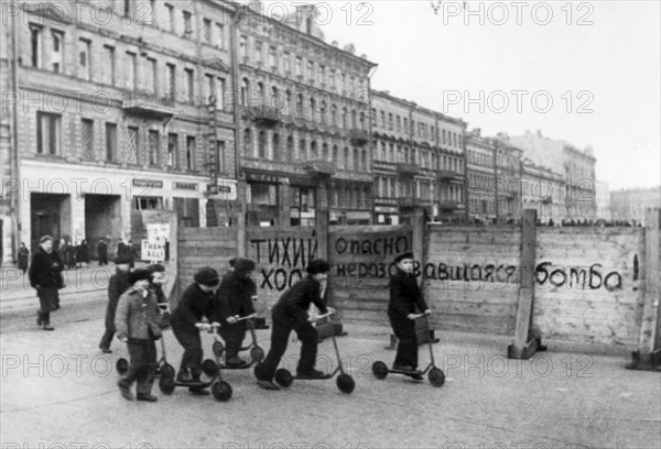
[[[236,258],[231,266],[232,270],[223,276],[216,293],[213,317],[223,325],[218,333],[225,340],[225,364],[241,368],[247,364],[239,358],[239,350],[246,338],[246,321],[237,321],[236,316],[254,314],[252,298],[257,293],[257,285],[250,277],[254,271],[254,261]]]

